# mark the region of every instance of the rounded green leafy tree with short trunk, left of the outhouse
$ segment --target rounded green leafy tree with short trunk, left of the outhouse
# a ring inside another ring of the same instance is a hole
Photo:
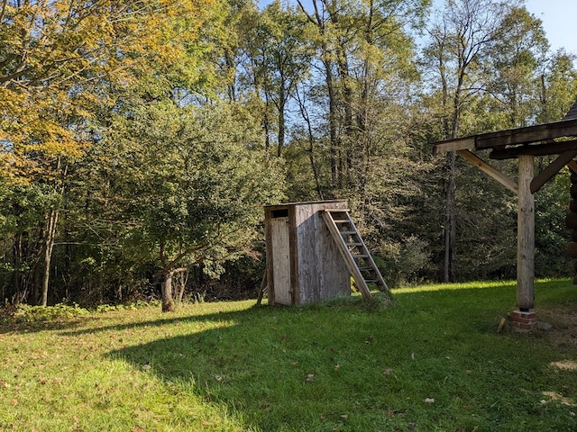
[[[261,206],[281,196],[280,167],[262,147],[254,119],[234,105],[180,108],[159,102],[116,116],[102,152],[114,184],[124,253],[154,263],[162,310],[172,311],[172,277],[252,250]],[[112,216],[112,215],[111,215]]]

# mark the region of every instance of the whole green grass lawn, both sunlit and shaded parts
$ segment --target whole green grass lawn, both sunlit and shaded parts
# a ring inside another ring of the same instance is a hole
[[[495,331],[513,283],[395,295],[5,322],[0,431],[577,430],[577,370],[553,365],[577,362],[571,282],[536,284],[554,329],[532,334]]]

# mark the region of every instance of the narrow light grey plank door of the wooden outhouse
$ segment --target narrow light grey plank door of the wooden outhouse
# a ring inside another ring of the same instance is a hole
[[[270,231],[274,302],[290,306],[292,295],[290,293],[289,218],[271,219]]]

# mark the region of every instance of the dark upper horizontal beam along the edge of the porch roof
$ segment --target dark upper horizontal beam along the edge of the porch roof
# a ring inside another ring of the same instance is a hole
[[[494,148],[545,141],[560,137],[577,137],[577,119],[554,121],[525,128],[499,130],[477,135],[475,148]]]

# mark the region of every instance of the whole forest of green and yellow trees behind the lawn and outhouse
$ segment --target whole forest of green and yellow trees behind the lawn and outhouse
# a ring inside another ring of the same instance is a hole
[[[252,295],[262,206],[330,199],[391,286],[514,278],[517,197],[431,143],[561,120],[575,58],[522,0],[436,5],[0,1],[0,299]],[[569,185],[537,277],[572,275]]]

